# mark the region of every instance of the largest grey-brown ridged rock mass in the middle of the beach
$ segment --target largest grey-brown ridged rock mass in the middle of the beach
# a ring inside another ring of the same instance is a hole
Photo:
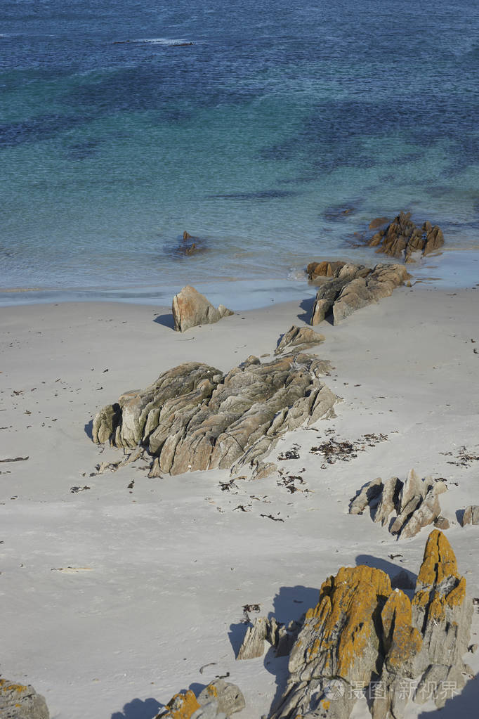
[[[328,363],[291,353],[261,364],[248,357],[223,372],[185,362],[145,390],[128,392],[93,420],[93,441],[141,444],[158,472],[254,467],[282,434],[332,411],[336,396],[320,380]]]

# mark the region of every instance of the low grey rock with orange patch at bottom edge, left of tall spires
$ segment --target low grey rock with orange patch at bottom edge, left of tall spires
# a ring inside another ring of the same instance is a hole
[[[197,697],[188,690],[175,694],[155,719],[228,719],[245,707],[235,684],[215,679]]]

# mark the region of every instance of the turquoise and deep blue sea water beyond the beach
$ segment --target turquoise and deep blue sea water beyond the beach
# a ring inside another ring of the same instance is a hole
[[[0,288],[294,293],[401,209],[479,247],[478,1],[259,5],[2,1]]]

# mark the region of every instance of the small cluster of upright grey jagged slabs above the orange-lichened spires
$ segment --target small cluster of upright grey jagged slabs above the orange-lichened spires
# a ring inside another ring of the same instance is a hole
[[[402,482],[391,477],[383,482],[378,477],[364,485],[360,493],[350,501],[349,513],[362,514],[371,508],[373,521],[388,525],[391,534],[413,537],[422,527],[440,518],[439,495],[447,490],[445,482],[432,479],[420,480],[411,470]],[[396,516],[391,518],[391,515]],[[393,521],[394,519],[394,521]]]

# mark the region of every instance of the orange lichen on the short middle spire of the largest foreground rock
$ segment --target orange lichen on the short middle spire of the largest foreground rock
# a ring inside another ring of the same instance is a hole
[[[396,590],[389,595],[381,620],[389,664],[399,668],[422,647],[421,633],[412,626],[411,602],[404,592]]]

